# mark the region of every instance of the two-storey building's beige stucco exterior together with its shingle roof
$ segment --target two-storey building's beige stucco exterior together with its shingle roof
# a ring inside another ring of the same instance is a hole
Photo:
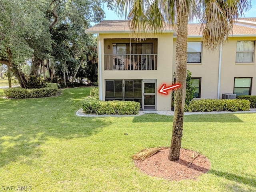
[[[241,23],[243,22],[243,23]],[[234,93],[235,78],[252,78],[251,95],[256,95],[256,18],[243,18],[233,25],[228,41],[216,50],[202,47],[201,63],[188,63],[192,77],[200,78],[200,98],[222,99],[222,94]],[[250,25],[249,25],[250,24]],[[106,66],[106,54],[112,55],[112,44],[134,42],[128,22],[124,20],[103,21],[86,30],[98,34],[98,72],[100,100],[105,100],[105,80],[156,80],[156,110],[171,110],[171,92],[159,94],[162,84],[172,84],[175,72],[175,31],[166,29],[160,34],[147,34],[145,42],[153,43],[152,54],[157,54],[154,70],[114,70]],[[188,25],[188,42],[202,42],[200,24]],[[145,36],[143,36],[145,38]],[[236,63],[238,41],[254,41],[253,62]],[[104,61],[105,59],[105,61]],[[126,60],[126,58],[125,58]]]

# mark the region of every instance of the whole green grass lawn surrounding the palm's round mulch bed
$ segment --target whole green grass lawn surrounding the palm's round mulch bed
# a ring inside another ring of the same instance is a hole
[[[185,116],[182,147],[207,156],[211,170],[175,182],[141,173],[131,158],[144,148],[169,146],[172,117],[78,117],[89,92],[72,88],[52,98],[0,98],[1,190],[256,191],[256,114]]]

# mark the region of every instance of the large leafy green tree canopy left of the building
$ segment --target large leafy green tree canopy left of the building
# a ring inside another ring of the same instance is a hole
[[[23,88],[28,76],[38,76],[42,69],[45,79],[56,76],[64,82],[68,75],[74,77],[95,45],[95,38],[84,30],[104,19],[104,3],[112,7],[110,0],[1,0],[0,63]],[[28,63],[30,73],[25,74],[22,66]]]

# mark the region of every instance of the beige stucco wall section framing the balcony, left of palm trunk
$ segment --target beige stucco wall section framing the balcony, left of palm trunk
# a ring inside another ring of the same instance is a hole
[[[158,94],[158,89],[165,83],[172,84],[172,53],[173,53],[173,34],[163,33],[148,35],[147,38],[157,38],[157,70],[104,70],[104,54],[111,54],[112,50],[106,48],[110,39],[127,39],[131,38],[130,34],[99,34],[98,47],[100,48],[99,69],[99,90],[100,99],[105,100],[105,80],[122,80],[122,79],[142,79],[156,80],[156,110],[171,110],[171,94],[167,96]],[[122,40],[120,40],[122,42]],[[154,49],[154,48],[153,48]],[[153,50],[154,52],[154,50]]]

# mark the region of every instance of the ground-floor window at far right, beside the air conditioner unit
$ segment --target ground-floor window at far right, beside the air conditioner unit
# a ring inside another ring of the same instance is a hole
[[[234,94],[251,95],[252,77],[235,77]]]

